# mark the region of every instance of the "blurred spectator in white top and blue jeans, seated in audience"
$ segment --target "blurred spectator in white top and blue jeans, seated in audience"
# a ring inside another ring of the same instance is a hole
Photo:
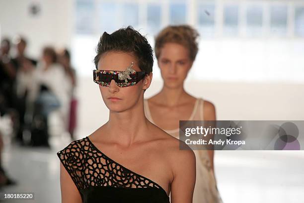
[[[57,54],[54,48],[45,47],[42,61],[34,72],[29,98],[33,112],[32,138],[40,140],[34,145],[49,146],[47,142],[47,118],[50,112],[59,110],[60,122],[64,126],[63,130],[67,128],[71,89],[71,80],[67,78],[64,67],[57,63]],[[41,122],[44,123],[44,127],[41,127]],[[35,131],[35,135],[33,135],[33,131]],[[44,134],[43,140],[41,140],[42,133]]]

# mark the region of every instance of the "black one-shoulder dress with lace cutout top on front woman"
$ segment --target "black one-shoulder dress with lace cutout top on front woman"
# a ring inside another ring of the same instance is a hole
[[[166,192],[98,150],[88,137],[57,153],[83,203],[169,203]]]

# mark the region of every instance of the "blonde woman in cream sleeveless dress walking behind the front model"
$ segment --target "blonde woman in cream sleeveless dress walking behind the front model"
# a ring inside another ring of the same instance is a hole
[[[147,118],[179,138],[179,120],[216,120],[212,102],[184,90],[184,82],[198,52],[199,34],[188,25],[168,26],[155,38],[155,55],[163,79],[159,93],[144,101]],[[214,176],[214,151],[194,150],[196,184],[193,203],[222,202]]]

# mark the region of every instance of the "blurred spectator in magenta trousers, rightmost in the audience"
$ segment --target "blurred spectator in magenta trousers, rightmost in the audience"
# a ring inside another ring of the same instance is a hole
[[[71,54],[68,49],[60,50],[58,53],[59,63],[64,67],[66,78],[72,84],[71,91],[69,92],[70,97],[70,113],[68,121],[68,131],[71,135],[71,139],[74,140],[74,131],[76,128],[76,110],[77,100],[75,97],[76,88],[76,70],[71,65]]]

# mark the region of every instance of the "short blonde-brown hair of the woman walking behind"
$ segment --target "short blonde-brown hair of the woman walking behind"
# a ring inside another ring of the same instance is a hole
[[[198,52],[198,37],[199,33],[190,25],[169,25],[162,29],[155,37],[155,56],[158,59],[160,50],[164,44],[171,42],[187,48],[190,59],[194,61]]]

